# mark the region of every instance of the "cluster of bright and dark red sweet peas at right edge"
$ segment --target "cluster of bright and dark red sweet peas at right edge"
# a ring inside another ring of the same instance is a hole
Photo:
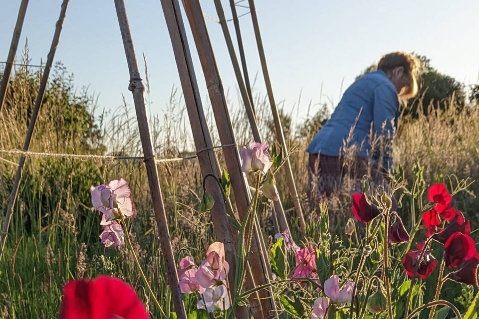
[[[468,285],[476,283],[476,269],[479,254],[476,244],[469,236],[471,226],[463,213],[451,207],[452,196],[443,183],[436,183],[429,188],[428,199],[433,208],[423,214],[426,236],[444,244],[444,263],[449,269],[459,268],[450,273],[449,278]],[[442,221],[441,219],[444,219]],[[447,224],[446,224],[447,223]],[[439,227],[439,226],[443,227]],[[418,275],[427,278],[435,270],[438,262],[427,249],[425,242],[416,245],[403,257],[403,265],[408,276]],[[421,253],[423,258],[421,260]]]

